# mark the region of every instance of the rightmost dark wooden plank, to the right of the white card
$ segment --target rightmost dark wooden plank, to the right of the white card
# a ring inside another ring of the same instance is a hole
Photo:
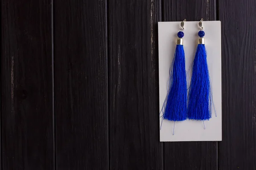
[[[220,170],[256,169],[256,1],[219,2],[222,45]]]

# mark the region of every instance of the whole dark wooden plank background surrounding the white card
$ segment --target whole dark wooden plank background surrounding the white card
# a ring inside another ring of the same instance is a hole
[[[221,20],[222,142],[159,142],[158,21]],[[255,170],[255,0],[1,0],[0,170]]]

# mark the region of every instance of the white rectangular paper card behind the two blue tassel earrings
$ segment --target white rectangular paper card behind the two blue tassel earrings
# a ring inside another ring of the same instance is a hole
[[[198,45],[198,22],[186,21],[184,23],[183,48],[186,58],[186,71],[188,87],[192,76],[192,62]],[[205,32],[205,47],[207,50],[207,62],[210,80],[212,83],[212,97],[216,110],[212,108],[212,118],[204,121],[185,120],[175,122],[173,133],[173,121],[163,120],[160,117],[160,141],[221,141],[221,22],[203,21]],[[175,54],[177,32],[180,31],[180,22],[159,22],[159,105],[160,112],[167,94],[167,82],[169,80],[169,68]],[[189,68],[191,68],[189,70]],[[213,105],[212,105],[213,107]],[[160,116],[163,114],[161,113]]]

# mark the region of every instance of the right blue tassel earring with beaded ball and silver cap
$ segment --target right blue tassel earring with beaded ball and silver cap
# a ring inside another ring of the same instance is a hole
[[[189,89],[188,118],[204,121],[212,116],[212,97],[202,21],[198,23],[200,31]]]

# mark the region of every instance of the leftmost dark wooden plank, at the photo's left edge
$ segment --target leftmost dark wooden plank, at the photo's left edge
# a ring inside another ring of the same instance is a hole
[[[2,0],[3,170],[53,170],[51,1]]]

